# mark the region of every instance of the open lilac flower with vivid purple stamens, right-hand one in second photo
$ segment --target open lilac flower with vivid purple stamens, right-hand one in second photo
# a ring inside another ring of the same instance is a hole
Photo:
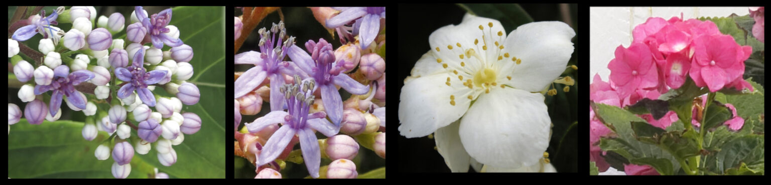
[[[335,62],[335,50],[332,49],[332,44],[329,44],[324,39],[319,39],[318,43],[312,40],[305,42],[305,49],[308,49],[308,52],[311,52],[312,55],[308,55],[297,45],[292,45],[288,55],[300,69],[307,72],[308,76],[311,76],[318,82],[322,92],[322,99],[324,99],[324,108],[329,115],[329,119],[332,119],[332,123],[335,123],[335,126],[339,126],[340,121],[342,121],[342,98],[335,85],[347,90],[348,93],[356,95],[369,92],[369,86],[364,86],[341,73],[342,70],[345,70],[343,67],[345,62]],[[273,99],[272,96],[273,92],[271,92],[271,99]],[[271,102],[271,106],[272,104]]]

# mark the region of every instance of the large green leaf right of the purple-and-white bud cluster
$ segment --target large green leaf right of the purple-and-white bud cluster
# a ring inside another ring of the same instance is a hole
[[[178,146],[177,163],[164,167],[158,162],[156,150],[140,155],[147,163],[160,171],[178,178],[224,178],[225,171],[225,21],[224,7],[193,6],[172,9],[174,17],[170,25],[180,29],[180,39],[195,52],[190,60],[194,76],[187,82],[198,86],[200,101],[185,106],[183,112],[196,113],[201,119],[201,129],[186,135]],[[156,90],[162,96],[169,95]],[[231,125],[232,126],[232,123]],[[230,128],[230,127],[227,127]]]

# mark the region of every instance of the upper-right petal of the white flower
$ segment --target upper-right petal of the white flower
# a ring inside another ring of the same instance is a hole
[[[501,76],[511,76],[515,89],[537,92],[557,79],[573,53],[571,39],[576,33],[564,22],[532,22],[520,25],[509,34],[503,52],[522,62],[507,60]],[[510,66],[513,66],[513,70]]]

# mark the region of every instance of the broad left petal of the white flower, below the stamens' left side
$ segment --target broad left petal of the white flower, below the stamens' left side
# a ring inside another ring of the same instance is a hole
[[[402,87],[399,103],[399,132],[407,138],[427,136],[449,125],[466,113],[471,103],[466,96],[471,89],[456,81],[446,85],[446,73],[423,76]],[[450,104],[455,97],[455,106]]]

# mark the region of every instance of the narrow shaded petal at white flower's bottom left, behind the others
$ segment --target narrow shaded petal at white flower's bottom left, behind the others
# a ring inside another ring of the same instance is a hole
[[[436,130],[434,140],[436,141],[436,150],[444,157],[444,163],[447,163],[449,170],[453,172],[468,172],[471,156],[466,153],[463,143],[460,143],[458,128],[460,121],[453,122]]]

